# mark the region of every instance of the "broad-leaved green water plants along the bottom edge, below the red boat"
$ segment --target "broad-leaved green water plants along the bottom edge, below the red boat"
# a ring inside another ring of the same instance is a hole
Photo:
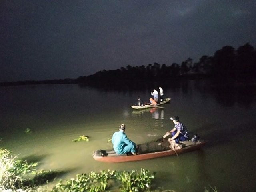
[[[66,184],[62,180],[53,188],[52,192],[101,192],[109,190],[110,180],[118,180],[121,183],[120,191],[136,192],[148,190],[151,186],[151,180],[154,174],[149,174],[148,170],[141,169],[140,172],[132,170],[131,172],[116,170],[103,170],[100,173],[90,172],[90,174],[78,174],[76,179],[70,179]]]

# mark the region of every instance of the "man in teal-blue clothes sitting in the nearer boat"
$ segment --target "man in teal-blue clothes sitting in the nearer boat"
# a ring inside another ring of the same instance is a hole
[[[114,151],[117,154],[125,154],[125,153],[132,153],[133,155],[137,154],[137,145],[132,142],[126,134],[125,125],[121,124],[119,126],[119,131],[115,132],[112,136],[112,144]]]

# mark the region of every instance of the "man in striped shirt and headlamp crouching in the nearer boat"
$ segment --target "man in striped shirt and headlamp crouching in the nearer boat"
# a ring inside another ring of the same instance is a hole
[[[173,121],[174,128],[169,132],[166,132],[163,137],[165,138],[166,136],[172,134],[172,137],[168,139],[170,147],[174,149],[180,149],[182,148],[182,146],[179,145],[180,141],[189,140],[187,128],[183,123],[180,122],[178,116],[171,117],[170,120]]]

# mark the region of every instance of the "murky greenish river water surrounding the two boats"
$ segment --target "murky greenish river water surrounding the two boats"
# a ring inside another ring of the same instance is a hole
[[[189,81],[162,88],[172,98],[170,104],[137,111],[130,105],[137,96],[148,100],[152,90],[79,84],[0,87],[0,147],[38,161],[40,169],[64,171],[56,181],[91,171],[145,168],[156,172],[154,183],[162,190],[200,192],[210,185],[218,191],[255,192],[255,87]],[[120,124],[140,144],[173,128],[174,115],[190,135],[208,140],[204,148],[138,162],[110,164],[92,158],[94,150],[112,148],[107,141]],[[27,128],[31,133],[25,133]],[[81,135],[89,136],[89,142],[72,142]]]

